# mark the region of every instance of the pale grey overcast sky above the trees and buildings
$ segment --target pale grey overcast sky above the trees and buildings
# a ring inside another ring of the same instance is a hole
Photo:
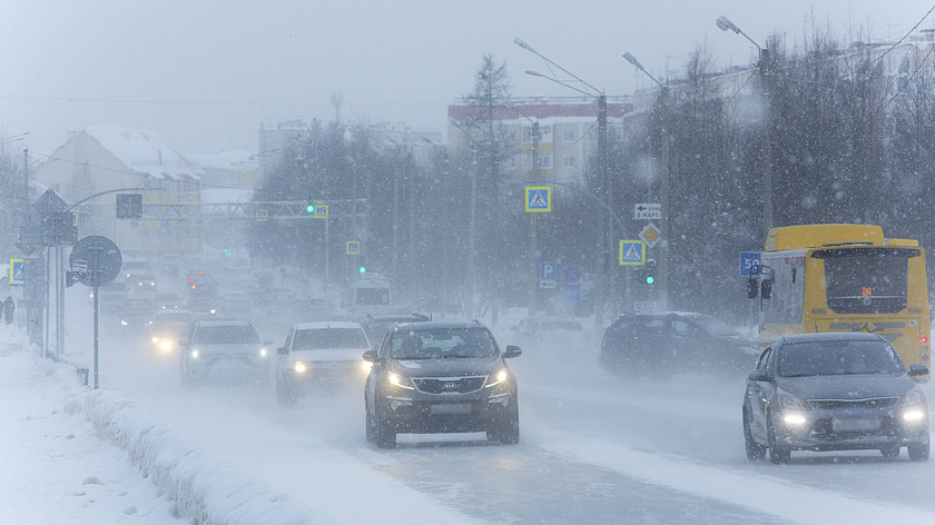
[[[183,153],[256,149],[260,121],[342,119],[441,130],[484,53],[506,62],[518,97],[573,95],[548,80],[539,52],[608,95],[649,87],[705,46],[749,65],[746,39],[800,40],[807,19],[834,34],[898,39],[932,0],[415,1],[8,0],[0,9],[0,132],[50,151],[68,130],[147,128]],[[921,29],[931,29],[929,16]]]

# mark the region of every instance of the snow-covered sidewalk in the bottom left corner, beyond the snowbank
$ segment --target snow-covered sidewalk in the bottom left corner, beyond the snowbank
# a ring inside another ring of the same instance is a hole
[[[0,326],[0,522],[184,523],[126,453],[83,414],[66,414],[77,375],[38,360],[21,333]]]

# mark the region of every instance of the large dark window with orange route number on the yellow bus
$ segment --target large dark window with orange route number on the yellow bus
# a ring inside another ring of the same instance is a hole
[[[825,261],[828,309],[835,314],[896,314],[907,306],[908,259],[905,248],[836,248],[811,257]]]

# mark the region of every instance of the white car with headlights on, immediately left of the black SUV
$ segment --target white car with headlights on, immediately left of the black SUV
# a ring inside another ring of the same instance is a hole
[[[371,348],[358,323],[302,323],[289,329],[286,344],[276,350],[276,399],[293,405],[305,392],[363,380]]]

